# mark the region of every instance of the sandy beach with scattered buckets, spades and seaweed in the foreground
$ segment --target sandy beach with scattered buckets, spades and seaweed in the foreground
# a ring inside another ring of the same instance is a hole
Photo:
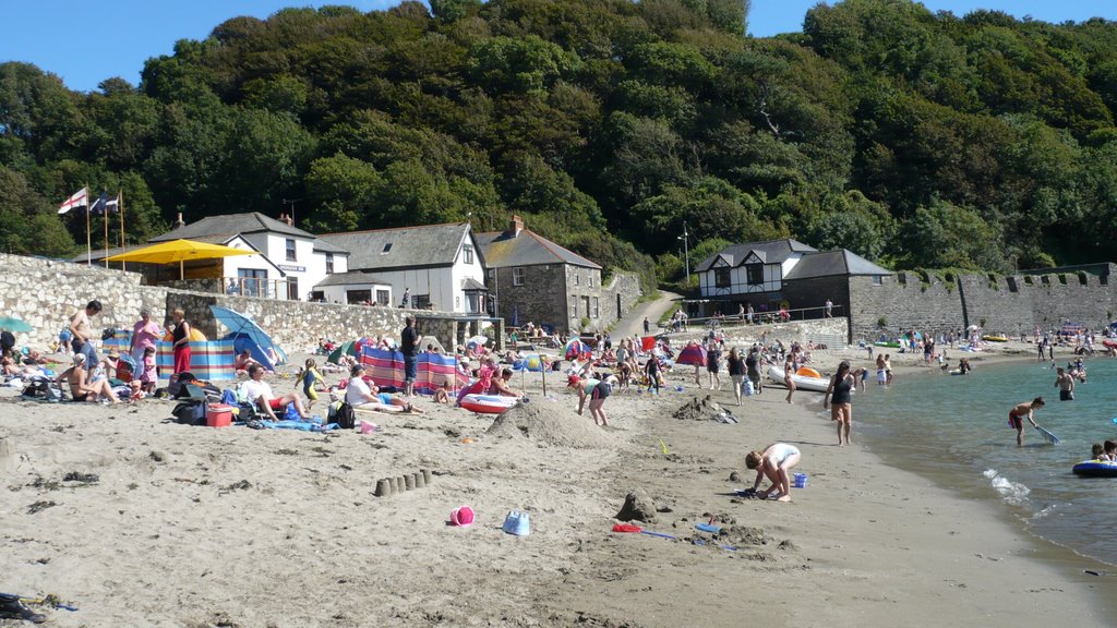
[[[898,377],[926,370],[894,361]],[[1083,573],[1106,565],[885,465],[856,430],[837,447],[821,393],[787,405],[772,387],[737,408],[684,368],[659,397],[614,393],[600,430],[560,378],[546,396],[538,378],[516,375],[529,402],[493,430],[421,399],[427,415],[361,413],[380,426],[366,435],[185,427],[164,401],[6,389],[0,590],[57,596],[78,610],[42,612],[74,627],[1113,625],[1114,579]],[[706,394],[741,422],[672,417]],[[777,440],[803,451],[808,487],[789,504],[737,497],[745,453]],[[429,486],[373,495],[420,469]],[[677,540],[611,532],[633,489],[661,511],[640,525]],[[448,525],[461,505],[476,523]],[[502,532],[512,510],[529,535]],[[712,517],[725,536],[695,530]]]

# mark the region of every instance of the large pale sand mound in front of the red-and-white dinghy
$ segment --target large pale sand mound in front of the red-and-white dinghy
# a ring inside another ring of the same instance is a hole
[[[611,447],[614,439],[593,425],[589,412],[577,412],[560,403],[521,403],[497,415],[486,434],[500,438],[526,438],[560,447]]]

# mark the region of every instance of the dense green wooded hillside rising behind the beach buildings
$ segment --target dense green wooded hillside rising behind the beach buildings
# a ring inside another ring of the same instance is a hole
[[[693,263],[786,236],[895,267],[1117,259],[1117,22],[846,0],[754,39],[739,0],[430,6],[231,19],[89,94],[0,65],[0,248],[84,248],[56,208],[88,183],[124,191],[133,242],[303,199],[311,231],[515,212],[649,279],[681,275],[684,223]]]

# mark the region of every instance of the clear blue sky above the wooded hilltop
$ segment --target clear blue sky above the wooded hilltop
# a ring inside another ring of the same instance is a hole
[[[179,39],[204,39],[236,16],[266,18],[284,7],[349,4],[371,11],[398,0],[11,0],[3,8],[0,61],[27,61],[57,74],[71,89],[96,89],[114,76],[139,84],[150,57],[170,55]],[[802,29],[817,0],[753,0],[750,34],[765,37]],[[974,9],[1063,22],[1117,20],[1113,0],[925,0],[933,10],[963,16]]]

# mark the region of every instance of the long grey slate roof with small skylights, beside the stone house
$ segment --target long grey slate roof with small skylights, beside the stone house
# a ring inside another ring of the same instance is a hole
[[[354,270],[452,266],[468,222],[322,234],[318,239],[349,251]],[[388,249],[385,253],[385,248]],[[480,250],[475,255],[480,256]]]

